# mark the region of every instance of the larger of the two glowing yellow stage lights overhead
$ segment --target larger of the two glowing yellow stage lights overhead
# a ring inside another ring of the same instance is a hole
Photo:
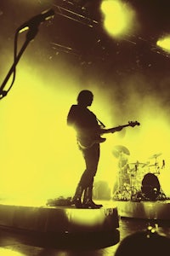
[[[104,15],[104,28],[111,37],[121,37],[133,27],[134,11],[127,3],[104,0],[100,5]]]

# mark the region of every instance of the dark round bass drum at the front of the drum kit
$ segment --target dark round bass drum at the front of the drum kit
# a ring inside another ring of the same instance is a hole
[[[147,199],[155,201],[157,196],[160,195],[160,183],[158,177],[153,173],[145,174],[142,180],[141,190]]]

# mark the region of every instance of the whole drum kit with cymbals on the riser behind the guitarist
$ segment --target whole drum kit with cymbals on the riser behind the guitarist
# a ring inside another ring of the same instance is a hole
[[[130,152],[122,145],[117,145],[112,153],[118,159],[117,188],[113,191],[113,200],[157,201],[167,199],[159,183],[161,169],[165,166],[165,160],[162,160],[161,166],[157,161],[161,153],[151,155],[147,162],[137,160],[133,163],[128,163],[127,156]],[[150,160],[154,160],[154,163],[150,164]]]

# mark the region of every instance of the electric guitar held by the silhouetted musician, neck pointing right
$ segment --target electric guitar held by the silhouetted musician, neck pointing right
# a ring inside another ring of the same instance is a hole
[[[87,149],[91,148],[95,143],[104,143],[106,138],[105,137],[100,137],[100,135],[105,134],[105,133],[114,133],[116,131],[122,131],[123,128],[127,126],[134,127],[136,125],[140,125],[139,122],[135,121],[130,121],[128,122],[127,125],[119,125],[113,128],[109,129],[99,129],[97,131],[90,132],[88,131],[87,134],[82,134],[82,136],[77,138],[78,145],[82,149]]]

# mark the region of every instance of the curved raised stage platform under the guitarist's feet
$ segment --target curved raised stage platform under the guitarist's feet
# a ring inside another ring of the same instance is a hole
[[[107,247],[120,241],[119,215],[111,205],[77,209],[1,203],[0,230],[40,247]]]

